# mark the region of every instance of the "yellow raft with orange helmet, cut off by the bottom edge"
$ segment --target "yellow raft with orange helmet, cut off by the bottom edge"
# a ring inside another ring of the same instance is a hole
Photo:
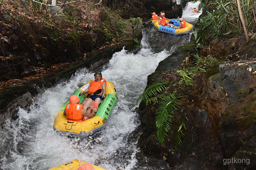
[[[60,166],[50,168],[49,170],[106,170],[99,166],[84,162],[83,160],[74,159],[68,163],[62,164]]]

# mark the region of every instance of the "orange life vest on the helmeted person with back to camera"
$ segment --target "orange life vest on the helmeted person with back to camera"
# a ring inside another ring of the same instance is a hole
[[[84,109],[81,104],[70,104],[68,103],[65,112],[68,116],[68,121],[82,122],[85,121],[84,116],[82,115],[82,109]]]

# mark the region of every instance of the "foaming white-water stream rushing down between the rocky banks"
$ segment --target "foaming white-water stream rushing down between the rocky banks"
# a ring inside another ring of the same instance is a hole
[[[70,139],[53,130],[55,115],[62,104],[81,84],[93,79],[92,72],[80,69],[69,80],[38,94],[28,108],[18,108],[17,120],[6,120],[0,132],[0,168],[48,169],[80,159],[109,170],[140,169],[135,158],[139,134],[133,135],[134,140],[129,136],[140,124],[134,111],[138,107],[136,100],[158,63],[190,41],[190,35],[166,35],[153,24],[145,24],[142,33],[138,53],[129,53],[124,48],[99,68],[103,78],[114,82],[118,95],[105,129],[84,140]]]

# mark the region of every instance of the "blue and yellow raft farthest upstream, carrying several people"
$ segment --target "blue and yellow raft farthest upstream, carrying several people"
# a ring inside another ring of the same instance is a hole
[[[173,22],[173,25],[179,26],[180,21],[177,19],[171,19],[169,20],[169,23]],[[190,30],[193,29],[193,25],[186,22],[186,27],[181,29],[175,29],[171,27],[164,27],[162,25],[159,25],[158,22],[154,23],[155,27],[158,31],[164,32],[164,33],[170,33],[171,35],[183,35],[189,33]]]

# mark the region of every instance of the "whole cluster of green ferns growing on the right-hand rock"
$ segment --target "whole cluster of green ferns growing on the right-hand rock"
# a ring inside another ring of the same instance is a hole
[[[193,80],[185,73],[185,71],[178,70],[177,71],[182,80],[179,82],[179,86],[182,91],[184,91],[185,87],[193,86]],[[169,84],[169,82],[154,82],[151,86],[149,86],[138,98],[137,103],[140,101],[145,101],[146,105],[148,104],[158,104],[156,108],[156,128],[157,128],[157,138],[158,142],[163,145],[164,139],[167,136],[167,133],[171,130],[173,112],[175,109],[178,109],[180,106],[180,98],[182,96],[176,95],[177,89],[173,90],[172,93],[164,94],[163,90],[166,89],[165,85]],[[183,94],[186,94],[183,93]],[[177,130],[177,135],[175,140],[178,145],[181,144],[181,137],[184,135],[182,130],[186,130],[185,121],[187,120],[186,115],[182,116],[181,124],[179,129]]]

